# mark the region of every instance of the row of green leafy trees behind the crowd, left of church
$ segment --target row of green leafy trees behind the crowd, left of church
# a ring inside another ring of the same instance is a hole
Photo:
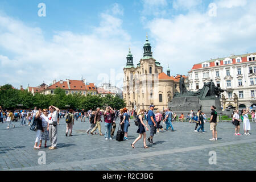
[[[57,88],[54,90],[54,94],[31,94],[27,90],[14,89],[10,84],[1,86],[0,88],[0,105],[3,109],[32,109],[37,106],[38,108],[48,108],[50,105],[54,105],[59,109],[93,109],[97,107],[104,108],[105,106],[111,106],[113,109],[121,109],[126,106],[125,101],[117,96],[108,94],[106,97],[101,95],[87,96],[81,93],[65,94],[65,90]]]

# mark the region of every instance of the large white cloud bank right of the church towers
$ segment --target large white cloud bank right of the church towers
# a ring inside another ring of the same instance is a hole
[[[155,39],[153,56],[164,68],[170,64],[175,75],[187,74],[193,64],[211,58],[256,52],[256,14],[251,13],[255,5],[251,1],[234,10],[217,9],[216,17],[193,11],[170,19],[155,18],[146,27]]]

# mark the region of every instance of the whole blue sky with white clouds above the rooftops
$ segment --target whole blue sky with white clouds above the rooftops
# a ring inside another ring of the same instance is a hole
[[[137,65],[146,35],[164,72],[169,64],[171,75],[187,75],[194,64],[256,52],[255,8],[253,0],[0,0],[0,85],[85,78],[121,88],[129,48]]]

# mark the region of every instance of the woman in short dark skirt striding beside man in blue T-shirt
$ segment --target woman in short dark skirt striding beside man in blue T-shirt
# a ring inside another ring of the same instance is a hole
[[[139,134],[139,137],[137,139],[134,140],[133,143],[131,143],[131,147],[134,147],[134,144],[136,142],[138,142],[139,139],[142,138],[143,135],[143,144],[144,144],[144,148],[148,148],[148,146],[146,145],[146,130],[148,131],[147,126],[143,123],[143,115],[144,115],[144,109],[139,109],[138,111],[138,115],[137,115],[137,121],[139,121],[139,126],[138,126],[138,130],[137,133]],[[146,130],[145,130],[146,127]]]

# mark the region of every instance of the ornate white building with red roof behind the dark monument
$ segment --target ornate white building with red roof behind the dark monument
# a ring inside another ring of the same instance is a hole
[[[256,107],[256,53],[231,55],[193,65],[188,72],[189,89],[203,88],[205,82],[213,80],[216,86],[225,90],[222,93],[223,109],[230,106],[243,109]]]

